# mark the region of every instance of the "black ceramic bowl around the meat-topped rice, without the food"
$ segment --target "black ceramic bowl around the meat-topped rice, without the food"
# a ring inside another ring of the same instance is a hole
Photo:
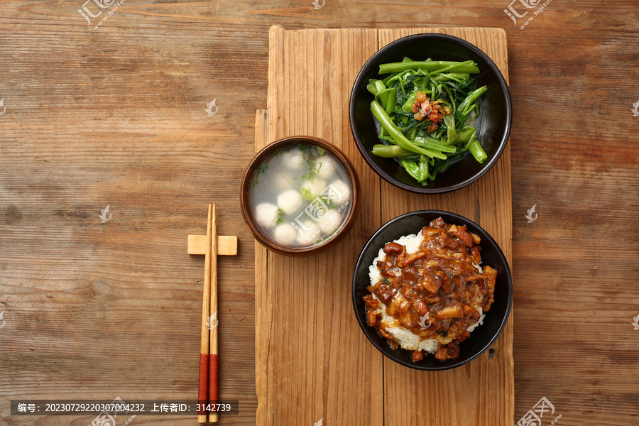
[[[471,336],[459,344],[459,358],[439,361],[435,359],[435,356],[429,354],[425,356],[422,361],[414,362],[413,359],[411,359],[410,351],[401,348],[391,349],[391,346],[388,346],[388,341],[382,337],[376,329],[368,326],[366,323],[366,305],[364,305],[362,297],[370,294],[368,290],[366,290],[366,287],[371,283],[368,278],[368,266],[370,266],[371,263],[373,263],[373,259],[377,257],[379,249],[386,243],[400,238],[400,236],[416,234],[424,226],[427,226],[430,221],[440,216],[447,224],[465,224],[468,226],[469,232],[481,237],[479,246],[481,246],[482,264],[490,265],[497,271],[494,294],[495,302],[493,302],[491,309],[486,312],[484,324],[474,329]],[[371,239],[368,240],[357,259],[353,274],[352,293],[353,307],[355,308],[355,316],[357,317],[357,322],[359,322],[359,327],[361,327],[361,330],[366,334],[368,340],[370,340],[382,354],[388,356],[388,358],[398,364],[415,368],[416,370],[447,370],[449,368],[459,367],[476,359],[490,348],[499,334],[501,334],[503,327],[506,326],[506,322],[508,321],[510,306],[513,304],[513,278],[510,275],[508,261],[506,261],[506,257],[503,256],[501,249],[495,240],[493,240],[484,229],[481,229],[479,225],[463,216],[459,216],[459,214],[439,210],[420,210],[395,217],[395,219],[383,225],[371,236]]]

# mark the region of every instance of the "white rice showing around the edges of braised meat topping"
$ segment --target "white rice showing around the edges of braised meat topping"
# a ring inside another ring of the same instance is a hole
[[[393,242],[402,246],[406,246],[406,253],[413,254],[420,248],[423,240],[424,237],[420,232],[419,234],[402,236]],[[381,280],[381,273],[377,268],[377,262],[383,262],[385,258],[386,253],[384,253],[383,248],[379,249],[377,257],[373,259],[373,264],[371,266],[368,266],[368,278],[371,279],[371,285],[376,285],[376,283]],[[433,262],[437,263],[436,261]],[[475,266],[480,273],[483,272],[480,266]],[[395,295],[395,297],[401,297],[401,294],[399,293],[399,295]],[[373,295],[373,298],[377,299],[376,295]],[[420,336],[417,336],[417,334],[401,326],[398,320],[395,320],[394,317],[386,314],[386,305],[383,305],[381,302],[379,302],[379,305],[381,307],[379,307],[376,312],[381,314],[381,327],[385,329],[386,332],[391,334],[391,336],[395,338],[395,342],[397,342],[403,349],[406,349],[408,351],[427,351],[430,354],[435,354],[435,351],[437,351],[437,347],[439,347],[439,344],[448,344],[452,342],[452,339],[450,338],[442,339],[441,342],[437,342],[437,340],[435,339],[420,340]],[[478,307],[478,310],[480,314],[479,321],[476,322],[476,324],[468,327],[468,332],[473,332],[476,327],[479,327],[479,325],[484,323],[484,317],[486,317],[486,315],[484,315],[481,307]]]

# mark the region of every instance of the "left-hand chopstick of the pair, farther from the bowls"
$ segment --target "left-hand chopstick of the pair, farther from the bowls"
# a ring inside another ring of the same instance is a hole
[[[204,290],[202,291],[202,335],[200,338],[200,381],[197,388],[197,403],[209,403],[209,317],[211,316],[211,258],[213,248],[214,206],[209,204],[207,217],[207,253],[204,257]],[[217,239],[217,238],[216,238]],[[217,247],[217,246],[216,246]],[[217,256],[216,256],[217,257]],[[217,274],[216,274],[217,278]],[[207,422],[207,411],[198,410],[197,422]]]

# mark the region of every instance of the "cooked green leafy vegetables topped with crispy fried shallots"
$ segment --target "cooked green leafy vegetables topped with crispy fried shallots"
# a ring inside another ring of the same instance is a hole
[[[404,58],[381,64],[379,74],[386,77],[366,86],[374,96],[371,112],[383,142],[373,146],[373,155],[395,158],[422,185],[467,153],[483,163],[488,155],[469,125],[479,116],[479,99],[487,89],[471,77],[478,72],[471,60]]]

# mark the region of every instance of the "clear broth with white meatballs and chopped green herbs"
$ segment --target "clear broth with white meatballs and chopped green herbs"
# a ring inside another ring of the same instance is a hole
[[[324,148],[296,144],[266,159],[251,180],[251,209],[275,244],[305,249],[339,234],[352,207],[342,163]]]

